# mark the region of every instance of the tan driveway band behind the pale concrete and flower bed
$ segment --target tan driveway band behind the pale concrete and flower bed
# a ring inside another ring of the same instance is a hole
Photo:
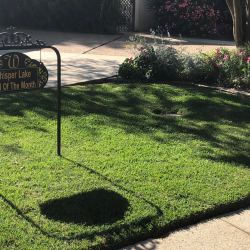
[[[134,36],[135,32],[124,32],[115,35],[102,34],[83,34],[59,31],[42,31],[42,30],[20,30],[32,36],[33,40],[39,39],[56,47],[61,53],[83,54],[91,55],[108,55],[108,56],[122,56],[130,57],[134,53],[126,49],[128,39]],[[147,42],[153,44],[153,39],[149,32],[142,32],[141,35],[147,39]],[[186,47],[189,53],[197,53],[202,50],[208,52],[216,49],[218,46],[223,46],[228,49],[234,49],[234,42],[196,39],[196,38],[182,38],[173,37],[175,48],[180,48],[180,41],[182,46]]]

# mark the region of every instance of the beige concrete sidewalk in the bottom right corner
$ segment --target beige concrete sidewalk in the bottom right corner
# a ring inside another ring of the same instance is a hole
[[[200,222],[120,250],[249,250],[250,208]]]

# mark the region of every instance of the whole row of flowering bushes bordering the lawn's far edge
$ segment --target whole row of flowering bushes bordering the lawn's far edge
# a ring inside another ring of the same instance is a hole
[[[141,36],[130,37],[128,47],[135,50],[135,57],[120,65],[118,75],[135,80],[188,80],[249,89],[250,48],[184,54],[173,47],[171,38],[168,40],[169,44],[155,40],[152,46]]]

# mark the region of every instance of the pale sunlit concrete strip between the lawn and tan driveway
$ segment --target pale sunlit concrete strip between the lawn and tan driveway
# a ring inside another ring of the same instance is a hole
[[[40,52],[26,53],[30,58],[40,61]],[[62,86],[74,85],[93,80],[106,79],[118,72],[125,57],[61,53]],[[57,84],[57,58],[54,52],[43,52],[41,61],[49,72],[46,88]]]

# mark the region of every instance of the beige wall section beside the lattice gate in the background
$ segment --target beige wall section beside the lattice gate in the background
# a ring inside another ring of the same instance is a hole
[[[135,31],[149,31],[153,24],[153,13],[146,10],[146,0],[135,0]]]

